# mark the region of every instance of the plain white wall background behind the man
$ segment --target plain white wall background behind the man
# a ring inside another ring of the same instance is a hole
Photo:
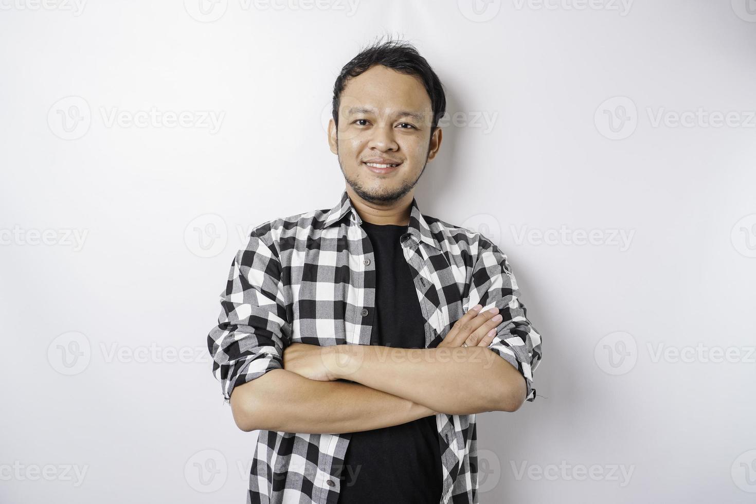
[[[756,2],[49,1],[0,0],[0,502],[244,502],[218,295],[250,227],[338,201],[333,81],[385,33],[457,114],[420,208],[544,338],[481,502],[756,498]]]

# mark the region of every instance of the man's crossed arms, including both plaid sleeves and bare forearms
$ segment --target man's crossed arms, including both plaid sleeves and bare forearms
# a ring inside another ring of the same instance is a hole
[[[241,430],[364,431],[435,413],[516,411],[533,400],[541,336],[525,317],[506,255],[485,238],[466,301],[503,318],[471,309],[437,348],[288,344],[280,271],[274,246],[253,232],[208,335],[213,372]],[[460,346],[465,341],[470,346]]]

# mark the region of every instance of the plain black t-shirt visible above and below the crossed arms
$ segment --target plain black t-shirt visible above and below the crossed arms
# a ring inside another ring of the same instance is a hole
[[[370,345],[425,348],[425,323],[400,238],[407,225],[362,228],[373,245],[376,310]],[[339,504],[438,504],[443,489],[435,415],[350,434]]]

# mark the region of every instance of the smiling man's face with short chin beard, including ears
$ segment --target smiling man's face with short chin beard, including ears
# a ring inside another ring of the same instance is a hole
[[[342,91],[338,131],[333,119],[328,125],[330,150],[358,196],[394,203],[410,193],[438,152],[441,129],[431,135],[431,122],[423,82],[376,65],[350,79]],[[385,164],[397,166],[383,169]]]

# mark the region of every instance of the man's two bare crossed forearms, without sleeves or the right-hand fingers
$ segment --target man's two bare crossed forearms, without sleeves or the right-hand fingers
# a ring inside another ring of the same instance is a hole
[[[313,348],[306,360],[316,366],[352,368],[351,373],[333,376],[353,382],[309,379],[288,369],[271,369],[234,388],[231,410],[241,430],[366,431],[435,413],[515,411],[525,400],[522,375],[485,347],[303,346]],[[285,352],[289,349],[293,348]],[[329,355],[320,349],[335,351]],[[339,357],[347,363],[328,364]]]

